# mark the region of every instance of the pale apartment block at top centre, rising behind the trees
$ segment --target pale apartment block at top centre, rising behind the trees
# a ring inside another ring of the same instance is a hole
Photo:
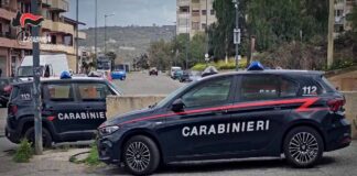
[[[216,22],[213,2],[214,0],[177,0],[177,34],[188,33],[192,37],[198,32],[205,32],[207,25]]]

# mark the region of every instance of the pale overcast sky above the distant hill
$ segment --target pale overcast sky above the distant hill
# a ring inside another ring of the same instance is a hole
[[[76,19],[76,0],[69,1],[69,12],[66,16]],[[85,28],[95,26],[95,0],[79,1],[79,21]],[[104,15],[115,13],[108,18],[107,25],[141,25],[151,26],[173,25],[176,21],[176,0],[98,0],[98,26],[104,26]]]

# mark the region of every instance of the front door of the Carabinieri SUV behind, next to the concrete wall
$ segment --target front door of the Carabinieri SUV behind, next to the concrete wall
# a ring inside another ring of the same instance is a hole
[[[107,120],[106,98],[112,95],[108,85],[99,81],[76,82],[77,92],[86,119],[82,121],[82,129],[96,130]]]

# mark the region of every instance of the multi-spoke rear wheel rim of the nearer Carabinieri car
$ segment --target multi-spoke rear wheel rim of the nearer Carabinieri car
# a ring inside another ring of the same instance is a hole
[[[289,152],[295,162],[301,164],[310,163],[317,156],[317,140],[309,132],[300,132],[290,140]]]

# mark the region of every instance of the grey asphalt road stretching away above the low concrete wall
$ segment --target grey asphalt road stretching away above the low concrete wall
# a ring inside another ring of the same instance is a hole
[[[184,84],[173,80],[165,74],[149,76],[148,73],[130,73],[126,80],[113,81],[125,95],[167,95]]]

